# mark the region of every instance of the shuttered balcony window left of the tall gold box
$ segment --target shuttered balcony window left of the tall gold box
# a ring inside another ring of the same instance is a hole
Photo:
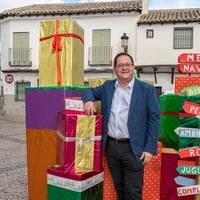
[[[13,33],[13,48],[10,49],[10,65],[31,65],[29,33]]]

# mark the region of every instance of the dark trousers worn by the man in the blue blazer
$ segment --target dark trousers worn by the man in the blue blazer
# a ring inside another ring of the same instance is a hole
[[[118,200],[142,200],[144,165],[136,160],[130,143],[108,139],[107,160]]]

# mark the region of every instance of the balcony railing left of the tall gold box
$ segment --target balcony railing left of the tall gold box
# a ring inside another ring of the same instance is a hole
[[[32,65],[31,53],[31,48],[9,48],[9,65],[30,67]]]

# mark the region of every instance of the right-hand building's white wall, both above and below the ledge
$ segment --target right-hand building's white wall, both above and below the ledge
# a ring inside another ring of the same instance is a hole
[[[193,48],[192,49],[173,49],[173,33],[174,27],[193,27]],[[153,29],[154,37],[146,38],[146,30]],[[137,66],[140,65],[177,65],[178,56],[182,53],[200,53],[200,26],[198,23],[179,23],[179,24],[152,24],[140,25],[137,27],[137,50],[136,60]],[[162,68],[162,66],[160,66]],[[160,71],[166,71],[161,69]],[[173,90],[174,83],[171,83],[171,68],[168,68],[169,73],[157,73],[157,84],[155,86],[161,86],[162,91]],[[175,68],[177,71],[177,67]],[[151,69],[153,72],[153,69]],[[175,73],[176,76],[188,76],[188,74]],[[199,76],[199,75],[194,75]],[[154,80],[154,74],[142,74],[142,78]]]

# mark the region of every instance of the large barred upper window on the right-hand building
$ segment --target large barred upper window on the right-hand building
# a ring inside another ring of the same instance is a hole
[[[174,28],[174,49],[193,48],[193,27]]]

